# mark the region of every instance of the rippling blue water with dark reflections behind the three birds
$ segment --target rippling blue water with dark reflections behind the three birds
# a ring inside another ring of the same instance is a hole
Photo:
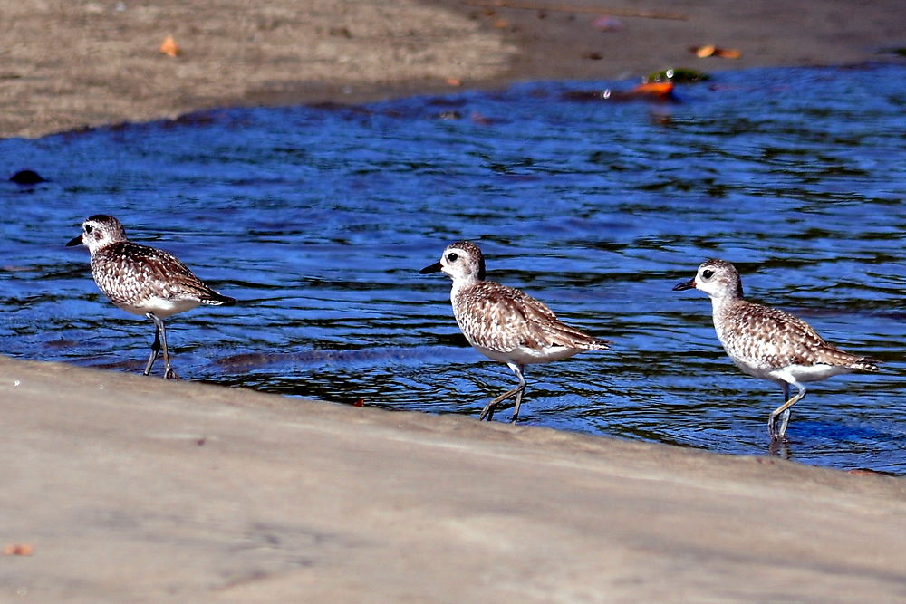
[[[729,362],[704,294],[670,291],[717,256],[750,299],[884,361],[811,385],[787,455],[906,474],[906,68],[722,73],[677,102],[564,98],[608,86],[631,84],[0,140],[5,172],[49,179],[0,184],[0,351],[143,369],[150,321],[63,246],[107,213],[244,301],[168,321],[183,378],[477,416],[515,379],[467,347],[448,280],[418,273],[468,238],[489,278],[614,342],[530,366],[522,423],[764,455],[780,388]]]

